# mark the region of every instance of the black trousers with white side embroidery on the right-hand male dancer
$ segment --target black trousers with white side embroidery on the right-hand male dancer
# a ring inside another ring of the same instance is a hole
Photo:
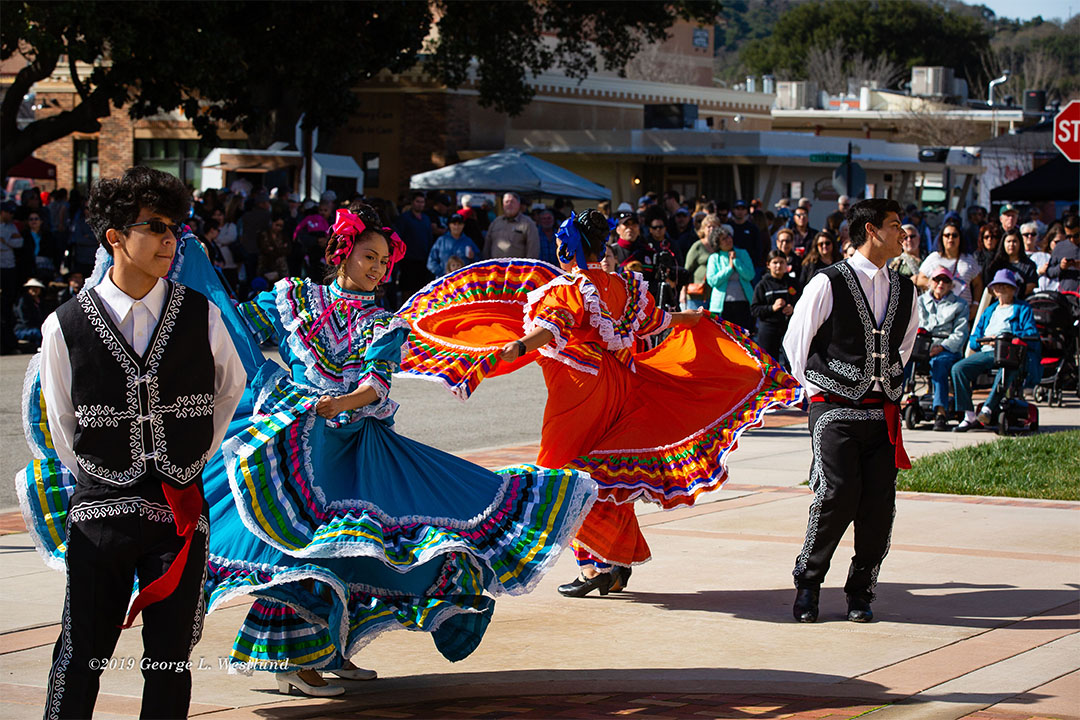
[[[874,599],[881,561],[889,553],[896,511],[895,448],[885,411],[812,403],[813,461],[806,542],[795,561],[796,587],[818,587],[848,526],[855,524],[855,554],[845,593]]]

